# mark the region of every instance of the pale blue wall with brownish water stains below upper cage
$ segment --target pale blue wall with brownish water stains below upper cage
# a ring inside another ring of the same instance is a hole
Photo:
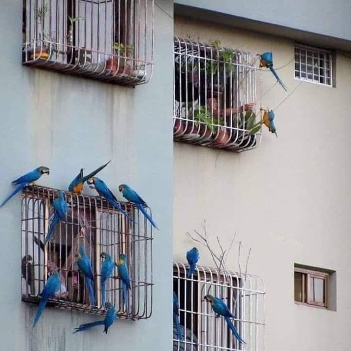
[[[158,4],[172,15],[172,1]],[[111,159],[103,178],[115,191],[120,183],[133,185],[160,226],[151,319],[118,321],[107,336],[101,330],[72,335],[74,326],[94,317],[48,309],[32,330],[35,306],[21,302],[19,196],[6,204],[0,209],[1,351],[171,349],[173,20],[158,7],[155,12],[154,75],[129,89],[22,66],[22,1],[1,3],[0,198],[11,180],[37,165],[51,168],[41,185],[66,189],[81,166],[89,170]]]

